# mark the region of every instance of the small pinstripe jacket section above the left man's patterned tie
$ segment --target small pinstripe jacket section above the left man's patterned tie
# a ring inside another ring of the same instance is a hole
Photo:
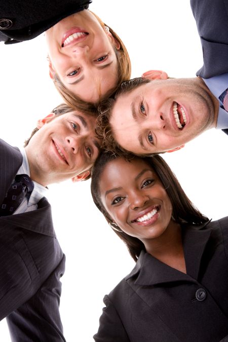
[[[23,159],[17,147],[10,146],[2,139],[0,139],[0,158],[0,204],[2,204]]]

